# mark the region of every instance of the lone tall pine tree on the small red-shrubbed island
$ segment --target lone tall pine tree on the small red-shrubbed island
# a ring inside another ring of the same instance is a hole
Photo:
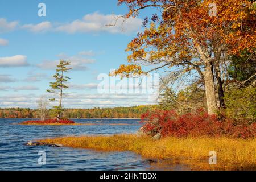
[[[68,89],[68,86],[66,85],[66,83],[70,79],[69,77],[64,76],[64,73],[72,69],[68,67],[70,64],[71,62],[69,61],[60,60],[60,63],[57,65],[56,74],[53,76],[56,81],[50,82],[49,86],[51,87],[51,89],[47,90],[47,92],[53,93],[59,97],[58,98],[59,100],[57,100],[56,98],[50,99],[50,101],[59,101],[59,105],[53,107],[58,121],[62,117],[62,113],[63,113],[63,105],[62,105],[63,96],[67,94],[67,93],[64,93],[64,90]]]

